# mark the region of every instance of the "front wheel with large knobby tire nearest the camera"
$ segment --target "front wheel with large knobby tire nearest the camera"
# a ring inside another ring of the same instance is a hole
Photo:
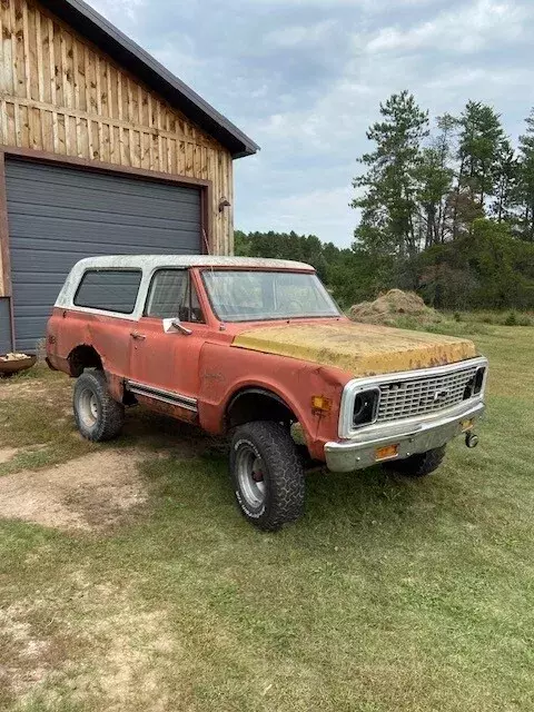
[[[255,526],[276,532],[303,515],[303,462],[283,425],[257,421],[237,427],[230,475],[239,508]]]

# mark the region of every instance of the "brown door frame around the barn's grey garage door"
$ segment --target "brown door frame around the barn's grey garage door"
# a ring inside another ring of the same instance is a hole
[[[185,188],[198,188],[200,192],[200,235],[198,236],[199,253],[201,255],[211,254],[214,216],[211,211],[214,184],[211,180],[202,178],[190,178],[189,176],[176,176],[162,174],[145,168],[134,168],[131,166],[116,166],[87,158],[75,158],[71,156],[58,156],[47,151],[28,148],[16,148],[9,146],[0,147],[0,297],[6,297],[9,301],[10,326],[11,326],[11,349],[16,350],[17,340],[14,332],[14,305],[11,280],[11,254],[9,248],[9,219],[8,219],[8,189],[6,181],[6,158],[17,158],[28,162],[48,164],[53,166],[65,166],[66,168],[79,168],[99,174],[115,174],[116,176],[129,177],[139,180],[152,180],[154,182],[166,182]]]

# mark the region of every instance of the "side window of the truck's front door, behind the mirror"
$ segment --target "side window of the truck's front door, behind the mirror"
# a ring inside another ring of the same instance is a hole
[[[159,269],[154,275],[145,315],[204,323],[197,290],[187,269]]]

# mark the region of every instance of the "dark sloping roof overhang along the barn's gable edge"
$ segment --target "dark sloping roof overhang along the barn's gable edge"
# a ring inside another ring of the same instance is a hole
[[[195,121],[225,146],[233,158],[253,156],[259,150],[259,146],[237,126],[87,2],[83,0],[40,0],[40,2]]]

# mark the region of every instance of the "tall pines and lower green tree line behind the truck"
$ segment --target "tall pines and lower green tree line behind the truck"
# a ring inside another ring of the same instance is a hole
[[[516,146],[479,101],[431,125],[402,91],[379,115],[353,182],[349,249],[236,233],[236,253],[313,264],[343,306],[400,287],[439,308],[534,308],[534,110]]]

